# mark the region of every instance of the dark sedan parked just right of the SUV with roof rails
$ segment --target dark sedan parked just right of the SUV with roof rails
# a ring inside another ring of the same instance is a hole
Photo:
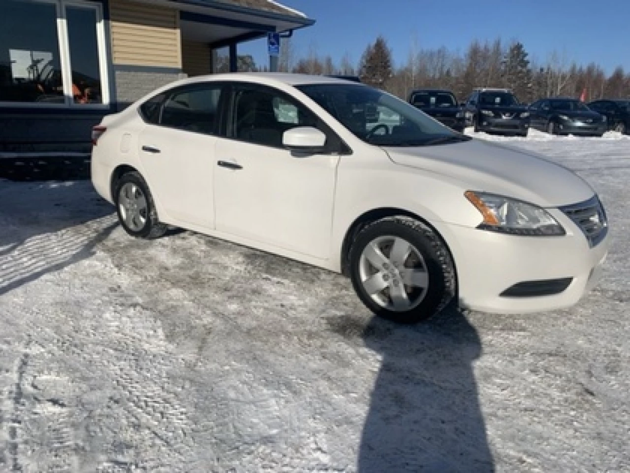
[[[593,112],[576,98],[544,98],[529,107],[530,126],[547,133],[602,136],[605,115]]]

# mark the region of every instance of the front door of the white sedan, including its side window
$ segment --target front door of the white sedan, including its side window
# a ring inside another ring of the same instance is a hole
[[[285,149],[283,132],[297,126],[319,127],[330,152]],[[294,98],[253,84],[232,88],[227,136],[215,148],[217,231],[328,259],[338,137]]]

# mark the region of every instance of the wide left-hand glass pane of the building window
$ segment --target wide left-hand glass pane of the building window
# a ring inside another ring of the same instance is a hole
[[[54,4],[0,1],[0,102],[64,103]]]

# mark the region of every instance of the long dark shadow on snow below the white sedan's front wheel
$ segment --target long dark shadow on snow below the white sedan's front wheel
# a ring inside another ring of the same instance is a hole
[[[472,366],[481,341],[463,313],[415,326],[373,318],[363,339],[382,364],[357,472],[493,472]]]

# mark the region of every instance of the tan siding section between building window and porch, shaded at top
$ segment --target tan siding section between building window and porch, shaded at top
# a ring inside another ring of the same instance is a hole
[[[114,64],[181,67],[179,11],[110,0]]]

